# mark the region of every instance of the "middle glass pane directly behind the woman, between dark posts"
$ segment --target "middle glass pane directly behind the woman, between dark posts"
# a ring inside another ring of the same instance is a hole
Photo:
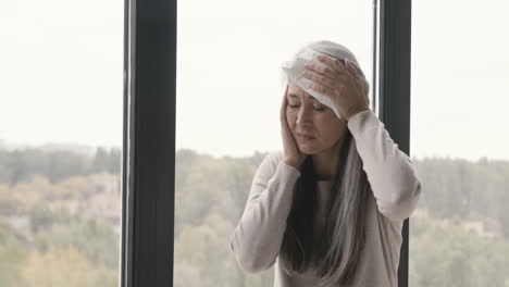
[[[174,286],[273,286],[274,267],[239,269],[229,236],[261,161],[283,148],[281,64],[307,42],[332,40],[353,52],[372,87],[373,5],[187,0],[177,18]]]

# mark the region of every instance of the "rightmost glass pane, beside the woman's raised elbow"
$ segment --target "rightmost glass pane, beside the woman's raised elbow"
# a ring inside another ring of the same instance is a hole
[[[509,2],[412,3],[410,286],[509,286]],[[433,15],[433,20],[431,20]]]

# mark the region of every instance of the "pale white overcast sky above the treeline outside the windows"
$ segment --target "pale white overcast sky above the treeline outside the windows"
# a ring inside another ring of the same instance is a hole
[[[412,9],[411,157],[509,160],[509,2]],[[348,47],[373,86],[372,10],[358,0],[179,1],[177,149],[281,149],[280,66],[312,40]],[[3,1],[0,39],[1,140],[122,146],[123,1]]]

